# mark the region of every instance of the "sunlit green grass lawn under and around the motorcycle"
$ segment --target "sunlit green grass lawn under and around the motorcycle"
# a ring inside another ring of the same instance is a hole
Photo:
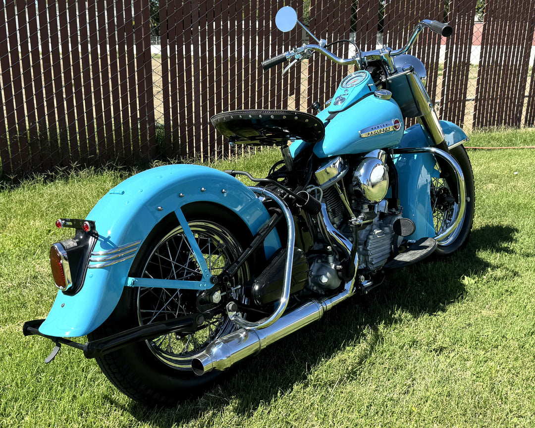
[[[471,146],[533,146],[534,131],[474,133]],[[127,173],[83,171],[0,192],[0,426],[535,425],[535,151],[469,150],[476,217],[468,247],[411,266],[365,297],[239,365],[174,409],[119,393],[95,361],[21,334],[54,296],[59,217],[85,217]],[[256,174],[276,151],[218,164]],[[249,166],[247,166],[249,165]]]

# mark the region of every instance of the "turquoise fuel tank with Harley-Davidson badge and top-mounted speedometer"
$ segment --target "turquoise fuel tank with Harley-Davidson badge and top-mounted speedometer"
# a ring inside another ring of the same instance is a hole
[[[381,98],[370,73],[356,71],[342,80],[331,105],[318,113],[325,124],[325,137],[314,146],[319,158],[360,154],[398,146],[404,124],[401,110],[392,99]],[[295,141],[290,147],[296,156],[307,144]]]

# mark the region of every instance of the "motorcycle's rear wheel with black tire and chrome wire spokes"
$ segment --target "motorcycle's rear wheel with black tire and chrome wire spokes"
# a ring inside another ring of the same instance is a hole
[[[250,238],[244,236],[248,230],[243,233],[243,228],[231,215],[220,212],[216,217],[203,205],[185,212],[185,215],[210,273],[217,276],[238,258]],[[171,280],[201,279],[198,263],[177,221],[156,228],[158,230],[147,238],[150,243],[144,245],[136,256],[131,275]],[[241,242],[236,236],[244,236],[246,241]],[[213,340],[235,330],[226,315],[225,304],[230,299],[246,302],[243,286],[248,278],[249,264],[245,263],[230,284],[218,290],[215,298],[197,290],[125,287],[113,314],[89,335],[89,340],[189,314],[202,312],[208,315],[195,332],[165,334],[137,342],[97,358],[98,365],[120,391],[148,406],[174,405],[202,392],[220,372],[197,376],[191,368],[192,358]]]

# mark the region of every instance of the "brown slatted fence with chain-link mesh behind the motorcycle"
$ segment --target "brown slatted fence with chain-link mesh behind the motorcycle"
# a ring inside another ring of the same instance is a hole
[[[274,27],[285,3],[0,0],[0,173],[230,156],[209,123],[216,112],[324,102],[347,68],[315,57],[281,77],[281,66],[259,66],[302,42],[300,30]],[[381,37],[400,47],[419,20],[447,14],[454,36],[427,33],[412,51],[440,116],[465,128],[535,126],[533,2],[486,2],[480,40],[476,0],[447,3],[447,12],[445,0],[384,11],[378,0],[291,5],[318,36],[354,37],[363,50]]]

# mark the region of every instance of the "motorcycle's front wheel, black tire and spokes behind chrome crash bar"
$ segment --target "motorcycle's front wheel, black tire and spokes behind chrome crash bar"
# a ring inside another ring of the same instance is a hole
[[[470,159],[463,146],[457,146],[449,151],[458,164],[464,175],[464,185],[466,189],[464,213],[461,222],[448,236],[438,239],[435,254],[448,255],[463,248],[468,241],[468,236],[472,230],[473,212],[475,205],[475,190]],[[443,233],[457,218],[461,209],[456,196],[456,179],[447,176],[441,171],[439,164],[435,169],[440,173],[440,177],[431,179],[431,207],[433,210],[433,223],[435,236]],[[453,187],[455,186],[455,188]]]

